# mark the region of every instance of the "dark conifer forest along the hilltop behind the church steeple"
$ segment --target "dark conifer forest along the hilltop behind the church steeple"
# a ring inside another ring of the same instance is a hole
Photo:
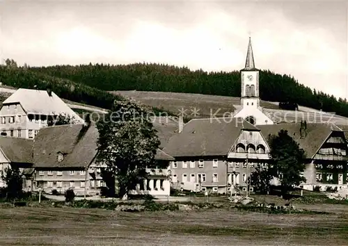
[[[191,71],[187,67],[135,63],[130,65],[56,65],[30,67],[48,74],[100,90],[145,90],[187,92],[240,97],[240,74],[233,72]],[[316,92],[298,83],[292,76],[260,72],[260,97],[265,101],[290,102],[348,116],[344,99]]]

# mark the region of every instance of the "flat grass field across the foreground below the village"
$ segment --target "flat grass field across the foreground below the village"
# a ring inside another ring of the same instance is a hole
[[[348,240],[347,210],[269,215],[23,207],[1,208],[0,220],[0,245],[347,245]]]

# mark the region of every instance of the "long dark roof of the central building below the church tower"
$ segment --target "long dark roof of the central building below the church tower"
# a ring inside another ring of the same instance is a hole
[[[242,118],[195,119],[169,140],[164,151],[171,156],[223,156],[242,129],[260,131]]]

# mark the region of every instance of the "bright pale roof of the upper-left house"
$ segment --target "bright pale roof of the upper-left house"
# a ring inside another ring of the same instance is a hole
[[[59,115],[65,113],[74,116],[74,120],[84,122],[65,102],[54,92],[50,97],[46,90],[30,90],[20,88],[13,95],[10,95],[3,105],[21,104],[27,114],[35,115]]]

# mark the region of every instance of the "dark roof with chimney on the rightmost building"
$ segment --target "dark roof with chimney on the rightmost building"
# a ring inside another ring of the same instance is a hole
[[[278,132],[282,129],[287,130],[289,136],[298,142],[300,147],[306,151],[307,158],[313,158],[313,156],[317,154],[319,147],[321,147],[326,138],[329,137],[331,131],[340,131],[334,124],[310,123],[307,124],[306,137],[301,138],[300,127],[301,123],[258,126],[264,138],[268,138],[269,134],[278,135]]]

